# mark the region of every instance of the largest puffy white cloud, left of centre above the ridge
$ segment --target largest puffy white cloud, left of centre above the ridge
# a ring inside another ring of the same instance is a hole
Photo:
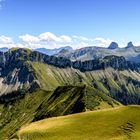
[[[59,48],[61,46],[71,45],[72,38],[67,35],[57,36],[50,32],[42,33],[38,36],[33,35],[21,35],[19,39],[24,42],[24,45],[28,48]]]

